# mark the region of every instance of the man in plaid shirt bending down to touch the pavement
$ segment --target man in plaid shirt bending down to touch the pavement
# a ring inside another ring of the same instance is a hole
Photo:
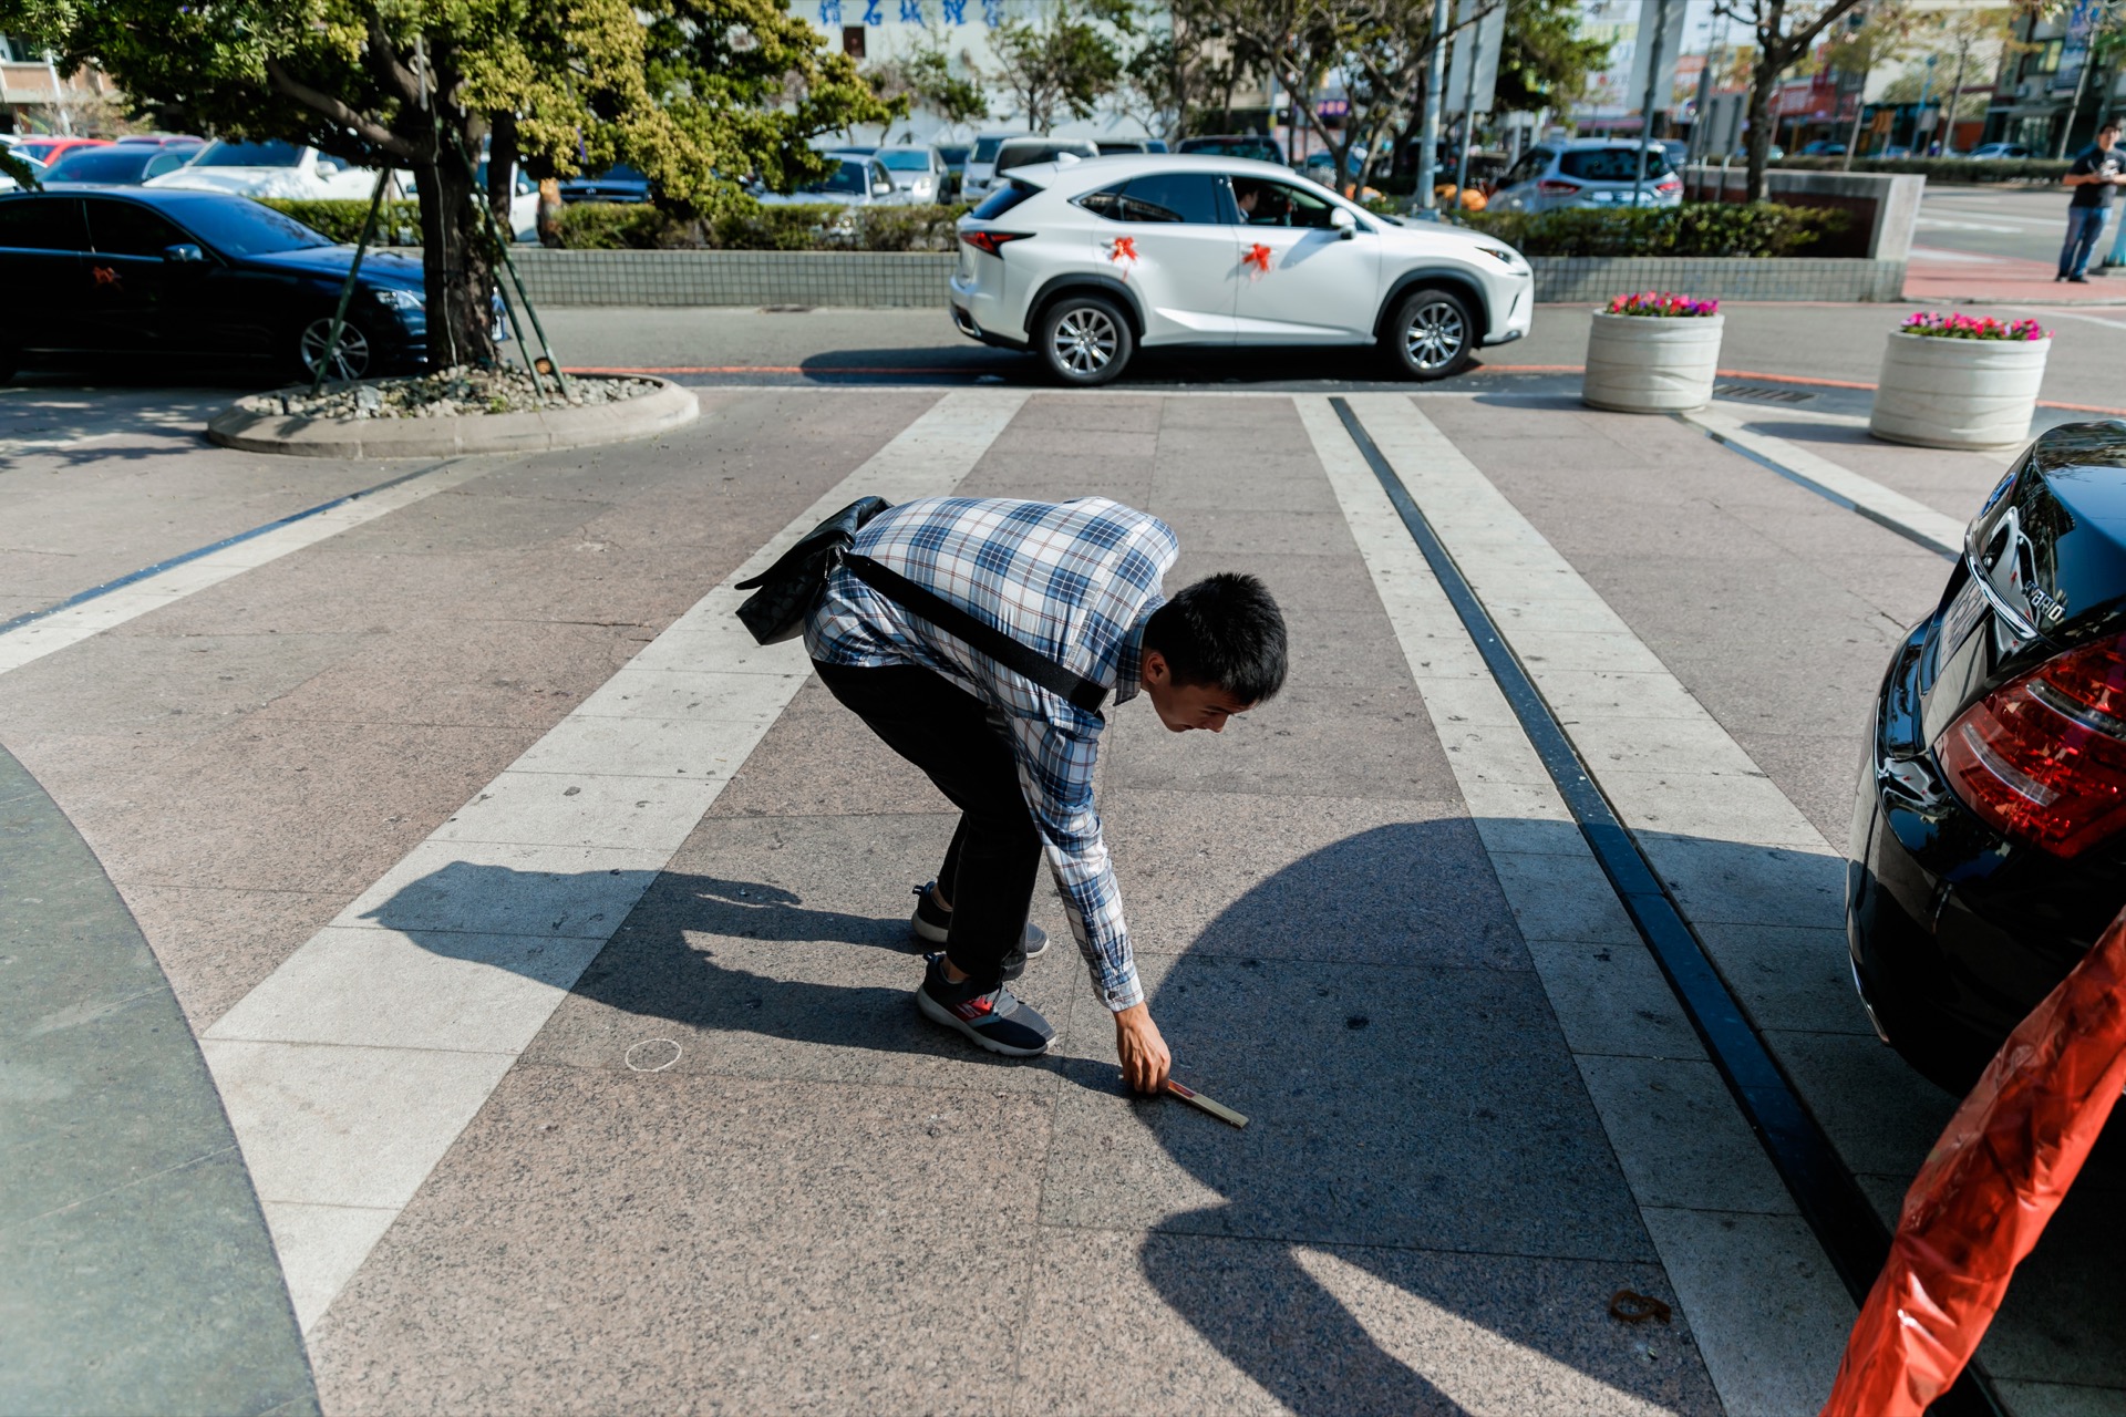
[[[1140,1092],[1165,1088],[1171,1056],[1093,803],[1101,703],[1142,690],[1169,731],[1220,733],[1286,667],[1284,616],[1252,576],[1161,597],[1178,552],[1165,523],[1106,497],[931,497],[863,523],[806,622],[833,697],[961,812],[916,888],[912,928],[944,945],[916,1007],[995,1054],[1048,1049],[1054,1030],[1008,986],[1048,943],[1027,922],[1046,854]]]

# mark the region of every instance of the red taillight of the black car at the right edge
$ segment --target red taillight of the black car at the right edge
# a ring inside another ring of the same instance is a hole
[[[1935,758],[1990,826],[2079,856],[2126,826],[2126,639],[2069,650],[1986,695]]]

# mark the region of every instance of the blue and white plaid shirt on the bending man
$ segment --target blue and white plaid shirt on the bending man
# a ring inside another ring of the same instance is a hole
[[[1180,544],[1163,520],[1106,497],[931,497],[874,516],[853,550],[1108,686],[1123,703],[1137,693],[1144,622],[1165,603],[1159,582]],[[923,665],[1003,714],[1018,788],[1093,986],[1110,1009],[1144,1003],[1093,809],[1106,720],[910,616],[846,569],[827,578],[806,648],[829,665]]]

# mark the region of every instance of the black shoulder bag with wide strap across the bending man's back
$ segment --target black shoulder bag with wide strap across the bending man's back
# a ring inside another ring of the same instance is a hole
[[[853,501],[819,527],[808,531],[795,546],[753,580],[740,580],[740,591],[755,595],[738,608],[738,618],[761,644],[780,644],[804,633],[804,622],[827,593],[827,576],[836,565],[846,565],[850,576],[872,586],[908,614],[929,620],[955,639],[963,639],[982,654],[1018,673],[1048,693],[1084,710],[1099,714],[1108,701],[1108,690],[1048,659],[1040,650],[1012,639],[995,625],[986,625],[952,601],[927,586],[918,586],[899,571],[891,571],[870,557],[848,554],[850,544],[863,523],[884,512],[891,503],[880,497]]]

